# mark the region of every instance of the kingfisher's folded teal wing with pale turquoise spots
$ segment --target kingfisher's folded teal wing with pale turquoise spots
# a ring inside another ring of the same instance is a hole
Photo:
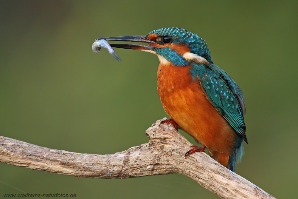
[[[193,64],[190,72],[198,78],[209,101],[247,143],[244,97],[235,81],[215,64]]]

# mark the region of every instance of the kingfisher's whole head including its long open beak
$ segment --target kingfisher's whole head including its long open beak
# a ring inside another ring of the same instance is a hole
[[[99,38],[108,41],[145,42],[139,44],[110,44],[111,47],[138,49],[158,56],[161,64],[187,66],[190,63],[212,63],[206,42],[198,35],[182,28],[161,28],[147,35]]]

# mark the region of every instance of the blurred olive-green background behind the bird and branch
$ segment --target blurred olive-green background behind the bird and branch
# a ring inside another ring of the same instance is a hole
[[[277,198],[297,198],[297,10],[297,1],[1,1],[0,133],[81,153],[147,143],[145,130],[167,117],[156,89],[158,58],[115,49],[118,63],[91,45],[181,27],[206,40],[214,63],[246,97],[249,145],[236,172]],[[1,197],[218,198],[178,174],[84,179],[4,163],[0,170]]]

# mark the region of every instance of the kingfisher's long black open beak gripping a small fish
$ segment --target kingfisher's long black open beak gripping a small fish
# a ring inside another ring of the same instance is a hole
[[[145,35],[139,36],[124,36],[124,37],[106,37],[106,38],[98,38],[96,40],[108,40],[108,41],[132,41],[132,42],[143,42],[148,44],[156,44],[154,41],[145,39]],[[126,49],[136,49],[136,50],[152,50],[154,46],[149,45],[139,45],[139,44],[110,44],[111,47],[116,48],[126,48]]]

